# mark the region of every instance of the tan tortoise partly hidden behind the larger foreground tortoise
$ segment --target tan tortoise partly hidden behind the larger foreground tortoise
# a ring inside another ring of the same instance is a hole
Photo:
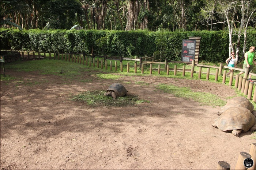
[[[245,97],[243,96],[238,96],[230,99],[227,101],[227,104],[223,107],[221,107],[221,110],[217,113],[217,115],[221,115],[223,112],[225,112],[227,109],[230,107],[244,107],[250,110],[251,112],[253,111],[253,105],[252,103]]]

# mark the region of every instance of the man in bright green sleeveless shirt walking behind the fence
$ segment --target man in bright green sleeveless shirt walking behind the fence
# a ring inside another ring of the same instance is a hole
[[[252,72],[252,70],[253,70],[253,64],[254,65],[256,65],[256,62],[255,62],[255,60],[254,60],[254,52],[255,52],[255,47],[250,47],[250,50],[249,51],[247,51],[245,54],[244,54],[244,66],[243,66],[243,69],[245,69],[246,67],[248,67],[249,68],[249,72]],[[249,72],[248,72],[248,74],[249,74]],[[244,71],[241,71],[240,73],[239,73],[239,75],[241,75],[241,74],[243,74],[244,73]],[[251,83],[254,83],[253,81],[252,81],[252,75],[249,75],[248,76],[248,80],[251,82]]]

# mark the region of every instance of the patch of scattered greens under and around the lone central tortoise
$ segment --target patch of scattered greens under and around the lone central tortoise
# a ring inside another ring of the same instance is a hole
[[[140,103],[147,102],[148,100],[139,99],[139,96],[127,95],[124,97],[118,97],[113,99],[110,96],[104,96],[106,91],[95,90],[95,91],[86,91],[75,95],[71,98],[73,101],[86,102],[91,106],[116,106],[116,107],[125,107],[132,106]]]

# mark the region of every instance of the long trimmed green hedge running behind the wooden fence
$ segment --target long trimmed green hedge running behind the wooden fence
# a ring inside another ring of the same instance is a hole
[[[159,51],[159,42],[164,46],[168,60],[181,60],[182,39],[201,37],[199,61],[223,62],[229,56],[229,34],[227,31],[109,31],[109,30],[52,30],[1,29],[1,49],[39,52],[86,52],[92,47],[95,54],[111,56],[152,56]],[[246,51],[256,46],[256,31],[248,30]],[[244,37],[241,38],[243,44]],[[158,42],[158,44],[157,44]],[[234,44],[237,36],[233,36]],[[242,46],[241,46],[242,47]],[[240,48],[240,57],[242,48]]]

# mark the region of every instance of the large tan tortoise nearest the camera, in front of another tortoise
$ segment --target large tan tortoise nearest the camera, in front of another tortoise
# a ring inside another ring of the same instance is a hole
[[[238,137],[241,132],[256,130],[256,118],[247,108],[230,107],[215,119],[212,126],[224,132],[231,131]]]

